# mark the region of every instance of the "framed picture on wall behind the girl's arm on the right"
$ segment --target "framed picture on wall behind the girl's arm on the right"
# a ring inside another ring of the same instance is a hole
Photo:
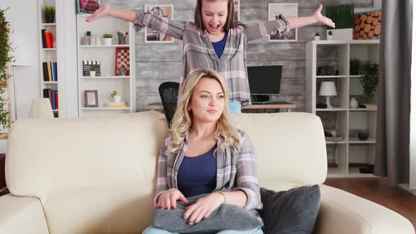
[[[269,4],[269,20],[276,20],[280,14],[298,17],[298,4]],[[269,42],[298,42],[298,29],[270,35]]]

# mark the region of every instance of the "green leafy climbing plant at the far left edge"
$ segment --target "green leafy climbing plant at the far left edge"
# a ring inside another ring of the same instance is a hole
[[[10,113],[8,112],[8,98],[6,97],[7,83],[11,78],[8,72],[9,63],[13,62],[13,51],[10,42],[10,23],[4,16],[8,8],[5,10],[0,8],[0,125],[2,132],[10,128]],[[3,133],[0,133],[0,135]]]

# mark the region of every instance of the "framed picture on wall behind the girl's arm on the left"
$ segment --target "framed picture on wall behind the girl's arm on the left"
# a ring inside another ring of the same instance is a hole
[[[145,5],[145,12],[152,12],[163,20],[173,20],[173,5]],[[145,27],[145,43],[173,43],[173,37]]]

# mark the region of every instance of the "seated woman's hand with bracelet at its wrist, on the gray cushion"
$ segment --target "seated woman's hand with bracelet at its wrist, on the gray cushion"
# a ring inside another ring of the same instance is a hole
[[[183,218],[188,219],[189,224],[199,223],[202,218],[208,218],[209,215],[218,208],[223,202],[224,197],[219,192],[213,192],[207,197],[198,199],[195,204],[185,208]]]

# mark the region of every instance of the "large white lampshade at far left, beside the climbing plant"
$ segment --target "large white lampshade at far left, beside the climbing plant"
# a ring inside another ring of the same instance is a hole
[[[14,51],[11,56],[15,61],[11,63],[12,66],[30,66],[32,65],[32,47],[30,47],[27,37],[20,32],[13,32],[11,34],[11,47]]]

